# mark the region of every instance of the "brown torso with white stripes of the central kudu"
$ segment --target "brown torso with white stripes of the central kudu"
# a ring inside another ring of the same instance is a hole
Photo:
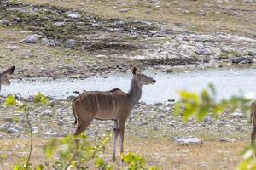
[[[110,91],[84,92],[73,100],[75,113],[83,111],[87,116],[101,120],[116,120],[120,111],[131,110],[129,106],[127,94],[119,88]]]

